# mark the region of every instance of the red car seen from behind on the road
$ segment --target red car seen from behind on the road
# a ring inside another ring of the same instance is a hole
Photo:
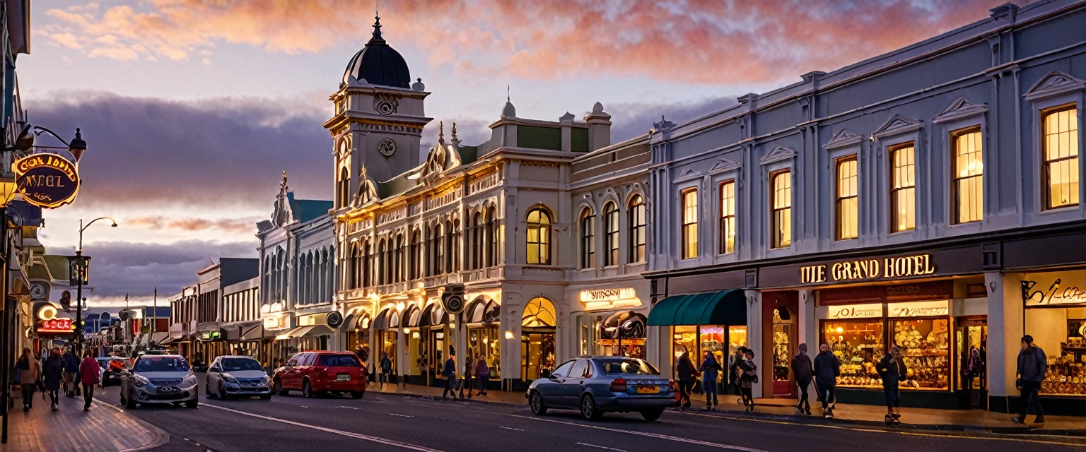
[[[362,399],[366,393],[366,367],[350,351],[303,351],[275,370],[272,385],[279,396],[298,390],[302,397],[340,392]]]

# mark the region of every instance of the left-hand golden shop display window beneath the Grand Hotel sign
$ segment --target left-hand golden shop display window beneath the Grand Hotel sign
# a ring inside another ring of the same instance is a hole
[[[882,319],[869,322],[823,322],[823,341],[841,362],[838,387],[881,388],[875,364],[885,354]]]

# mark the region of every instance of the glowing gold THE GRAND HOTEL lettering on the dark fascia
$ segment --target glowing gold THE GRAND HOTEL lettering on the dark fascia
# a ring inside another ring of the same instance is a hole
[[[935,270],[932,255],[887,257],[800,267],[799,281],[801,284],[870,281],[923,276],[935,273]]]

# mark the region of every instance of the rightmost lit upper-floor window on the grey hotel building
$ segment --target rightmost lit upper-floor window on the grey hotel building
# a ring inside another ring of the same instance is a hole
[[[1045,114],[1047,208],[1078,205],[1078,112],[1069,105]]]

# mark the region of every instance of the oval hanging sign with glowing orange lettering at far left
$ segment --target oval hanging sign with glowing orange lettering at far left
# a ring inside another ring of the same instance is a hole
[[[56,154],[31,154],[15,160],[15,183],[27,203],[52,209],[75,201],[79,173],[75,164]]]

